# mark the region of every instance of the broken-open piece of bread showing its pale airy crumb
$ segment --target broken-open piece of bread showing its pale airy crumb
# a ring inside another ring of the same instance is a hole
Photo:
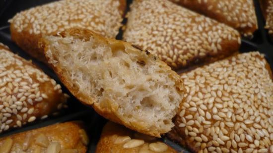
[[[69,29],[41,42],[68,90],[102,116],[156,137],[173,127],[183,82],[150,52],[87,29]]]

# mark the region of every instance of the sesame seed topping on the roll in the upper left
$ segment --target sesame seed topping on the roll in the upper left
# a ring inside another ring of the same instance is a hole
[[[115,38],[123,19],[123,10],[119,7],[119,0],[60,0],[19,12],[9,22],[17,32],[32,35],[56,34],[58,30],[82,27]],[[102,12],[104,15],[101,15]],[[52,81],[52,84],[55,82]]]

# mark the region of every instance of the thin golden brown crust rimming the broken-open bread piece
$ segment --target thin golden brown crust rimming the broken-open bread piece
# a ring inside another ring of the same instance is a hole
[[[90,30],[87,29],[68,29],[62,33],[59,34],[59,36],[62,37],[67,37],[67,36],[73,36],[74,38],[79,38],[82,40],[89,40],[90,37],[96,38],[98,41],[105,42],[107,44],[111,44],[114,47],[124,47],[125,51],[136,51],[137,53],[140,54],[140,56],[143,56],[142,52],[139,51],[139,49],[136,49],[135,47],[132,46],[131,43],[127,43],[124,41],[118,41],[114,39],[108,39],[104,38]],[[45,53],[49,50],[48,49],[48,43],[46,39],[41,39],[41,48],[44,49]],[[152,60],[156,61],[156,64],[159,65],[162,69],[165,69],[169,73],[169,77],[175,81],[175,85],[177,87],[177,90],[179,93],[184,92],[184,86],[183,83],[181,82],[181,79],[179,75],[177,75],[176,72],[172,71],[169,66],[167,66],[166,63],[162,62],[161,60],[158,60],[156,56],[147,53],[146,55],[148,58],[151,58]],[[48,58],[48,57],[47,57]],[[68,88],[68,90],[81,102],[83,102],[86,105],[91,105],[100,115],[104,116],[107,119],[110,119],[114,122],[120,123],[125,125],[126,127],[136,130],[140,133],[148,134],[151,136],[156,136],[160,137],[161,133],[166,133],[167,131],[160,131],[159,129],[150,129],[151,127],[148,126],[146,123],[138,123],[138,122],[129,122],[128,120],[124,119],[120,114],[118,114],[118,105],[115,105],[114,102],[101,102],[97,103],[95,100],[91,97],[84,96],[81,92],[78,92],[76,88],[73,87],[72,83],[68,82],[66,80],[66,76],[64,76],[64,73],[62,72],[63,70],[60,67],[53,66],[54,71],[56,74],[59,76],[59,78],[62,80],[64,85]]]

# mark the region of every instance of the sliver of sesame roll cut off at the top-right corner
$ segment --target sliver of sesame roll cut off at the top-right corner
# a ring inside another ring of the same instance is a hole
[[[260,5],[266,20],[265,28],[269,30],[269,35],[273,40],[273,0],[260,0]]]

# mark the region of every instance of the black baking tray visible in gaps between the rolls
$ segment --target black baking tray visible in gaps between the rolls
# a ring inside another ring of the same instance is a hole
[[[99,141],[101,130],[104,126],[104,124],[107,122],[106,119],[98,115],[91,107],[85,106],[78,102],[70,93],[69,91],[64,87],[64,85],[60,82],[58,77],[55,75],[55,73],[49,69],[44,63],[41,63],[37,61],[36,59],[30,57],[28,54],[26,54],[24,51],[22,51],[19,47],[17,47],[10,39],[10,32],[9,32],[9,24],[7,23],[7,20],[11,18],[13,15],[15,15],[16,12],[19,12],[21,10],[44,4],[50,1],[54,0],[0,0],[0,42],[7,45],[11,51],[19,54],[25,59],[31,59],[34,64],[39,66],[46,74],[51,76],[53,79],[55,79],[61,86],[63,87],[64,92],[68,93],[70,95],[70,99],[68,100],[68,108],[65,109],[63,112],[60,113],[58,116],[50,116],[49,118],[42,120],[42,121],[36,121],[32,124],[28,124],[22,128],[18,129],[11,129],[3,134],[0,134],[0,137],[5,137],[10,134],[23,132],[35,128],[44,127],[47,125],[51,125],[54,123],[59,122],[65,122],[65,121],[71,121],[71,120],[82,120],[84,122],[84,125],[86,126],[86,131],[89,135],[90,143],[88,145],[88,151],[87,153],[94,153],[96,149],[96,144]],[[128,1],[128,7],[127,11],[129,10],[129,5],[132,3],[132,0]],[[254,33],[254,38],[252,40],[242,39],[242,45],[240,48],[240,52],[249,52],[249,51],[260,51],[261,53],[264,53],[266,56],[266,59],[271,65],[271,68],[273,68],[273,43],[270,41],[268,36],[268,31],[264,29],[265,26],[265,20],[262,16],[262,11],[259,5],[258,0],[254,0],[255,6],[256,6],[256,14],[258,18],[258,25],[259,29]],[[123,23],[126,23],[127,19],[125,18]],[[120,30],[120,33],[117,36],[117,39],[122,39],[122,30]],[[181,73],[184,70],[178,70],[178,73]],[[178,152],[183,153],[190,153],[183,149],[181,146],[171,142],[167,138],[162,138],[162,140],[173,147]]]

